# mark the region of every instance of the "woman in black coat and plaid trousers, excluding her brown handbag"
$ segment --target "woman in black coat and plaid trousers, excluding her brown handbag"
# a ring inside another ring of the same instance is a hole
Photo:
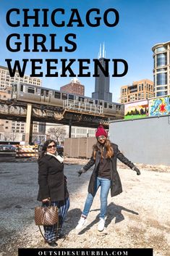
[[[55,247],[56,239],[61,237],[61,227],[69,210],[69,193],[67,178],[64,176],[63,157],[56,152],[56,142],[49,139],[43,144],[41,156],[38,159],[38,201],[46,207],[51,205],[59,208],[59,231],[54,226],[44,226],[45,238],[48,244]]]

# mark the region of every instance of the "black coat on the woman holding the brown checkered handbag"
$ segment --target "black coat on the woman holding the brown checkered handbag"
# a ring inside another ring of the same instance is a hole
[[[38,201],[48,197],[51,201],[62,201],[69,197],[64,165],[51,155],[44,155],[38,160]]]

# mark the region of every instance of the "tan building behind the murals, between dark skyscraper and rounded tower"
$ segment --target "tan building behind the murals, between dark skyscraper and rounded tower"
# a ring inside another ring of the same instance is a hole
[[[154,96],[153,81],[148,79],[132,83],[132,86],[121,87],[121,103],[135,102],[140,99],[148,99]]]

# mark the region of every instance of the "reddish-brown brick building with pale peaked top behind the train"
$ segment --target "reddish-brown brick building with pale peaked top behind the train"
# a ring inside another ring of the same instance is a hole
[[[85,86],[83,86],[77,78],[73,78],[70,83],[61,86],[60,91],[85,96]]]

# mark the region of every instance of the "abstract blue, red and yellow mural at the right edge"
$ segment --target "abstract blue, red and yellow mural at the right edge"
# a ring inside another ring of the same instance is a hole
[[[149,116],[169,115],[170,96],[164,96],[149,101]]]

